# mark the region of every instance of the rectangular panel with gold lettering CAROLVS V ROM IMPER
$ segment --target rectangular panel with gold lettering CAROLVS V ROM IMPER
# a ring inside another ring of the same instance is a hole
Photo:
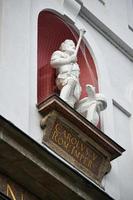
[[[84,142],[74,130],[56,120],[49,139],[87,170],[98,175],[103,157],[91,145]]]

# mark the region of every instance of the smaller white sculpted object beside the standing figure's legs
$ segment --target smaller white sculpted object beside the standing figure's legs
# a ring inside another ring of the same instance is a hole
[[[88,119],[95,126],[98,125],[100,112],[107,107],[107,101],[103,94],[96,93],[95,87],[86,85],[88,97],[81,99],[76,106],[76,110]]]

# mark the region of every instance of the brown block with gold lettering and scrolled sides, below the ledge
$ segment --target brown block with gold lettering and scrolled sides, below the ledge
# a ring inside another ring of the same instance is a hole
[[[42,120],[43,143],[100,184],[109,170],[108,154],[82,130],[53,111]]]

